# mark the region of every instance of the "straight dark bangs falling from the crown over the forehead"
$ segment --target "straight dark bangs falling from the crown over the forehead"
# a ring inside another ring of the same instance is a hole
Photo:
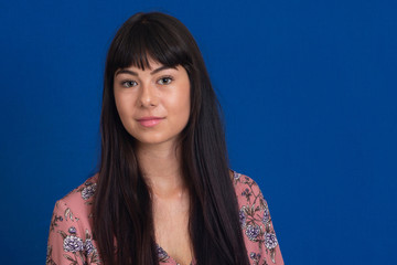
[[[144,68],[150,68],[149,60],[170,67],[182,65],[186,68],[192,64],[187,45],[175,32],[165,29],[157,21],[143,20],[126,29],[125,32],[118,32],[117,35],[120,39],[114,42],[118,45],[112,45],[110,56],[112,62],[108,65],[111,74],[119,68],[130,66],[144,71]]]

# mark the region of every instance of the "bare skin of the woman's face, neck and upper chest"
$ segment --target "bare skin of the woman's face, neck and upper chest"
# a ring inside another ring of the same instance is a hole
[[[149,60],[144,71],[130,66],[115,73],[114,92],[126,130],[137,139],[137,157],[151,188],[157,243],[180,264],[192,261],[189,193],[181,174],[178,139],[190,117],[190,80],[181,65],[164,68]],[[161,117],[153,127],[138,119]]]

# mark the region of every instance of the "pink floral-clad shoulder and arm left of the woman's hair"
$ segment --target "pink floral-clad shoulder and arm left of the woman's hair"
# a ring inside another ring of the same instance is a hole
[[[99,264],[92,233],[97,177],[88,178],[56,201],[50,224],[46,264]]]

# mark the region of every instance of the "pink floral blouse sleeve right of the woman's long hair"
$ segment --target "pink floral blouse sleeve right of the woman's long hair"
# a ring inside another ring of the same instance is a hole
[[[279,242],[270,218],[269,206],[258,184],[246,176],[240,176],[238,201],[240,223],[251,265],[283,265]]]

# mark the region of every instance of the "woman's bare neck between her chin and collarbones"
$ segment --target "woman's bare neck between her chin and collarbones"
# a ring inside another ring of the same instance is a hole
[[[137,156],[143,178],[155,197],[167,199],[183,193],[180,146],[139,145]]]

